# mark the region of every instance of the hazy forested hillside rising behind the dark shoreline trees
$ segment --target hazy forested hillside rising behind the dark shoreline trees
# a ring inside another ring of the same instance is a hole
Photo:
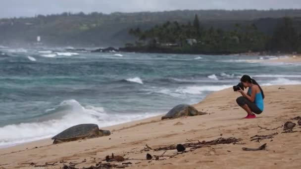
[[[139,27],[141,32],[144,32],[151,29],[155,30],[155,25],[161,27],[166,21],[170,21],[167,27],[173,27],[177,23],[181,30],[191,30],[187,23],[191,22],[191,26],[193,26],[193,19],[196,14],[200,20],[200,32],[197,33],[200,34],[200,41],[204,42],[205,45],[223,45],[218,40],[221,35],[227,37],[230,33],[242,34],[246,27],[248,27],[250,34],[259,36],[260,39],[256,41],[266,41],[265,36],[269,38],[273,35],[278,21],[284,16],[294,18],[292,22],[296,34],[298,34],[298,30],[301,30],[301,19],[298,18],[301,17],[301,9],[176,10],[137,13],[115,12],[111,14],[65,12],[29,18],[0,19],[0,45],[32,45],[36,42],[36,37],[41,36],[45,45],[123,46],[125,43],[133,43],[136,40],[134,36],[128,34],[130,28]],[[183,24],[185,28],[182,27]],[[257,29],[252,26],[253,24]],[[211,27],[212,29],[210,29]],[[264,35],[259,35],[259,33]],[[195,37],[194,32],[187,34]],[[214,39],[209,38],[211,34],[215,36]],[[179,39],[184,39],[183,36],[186,36],[186,33],[177,35],[176,40],[172,41],[178,42]],[[149,39],[149,37],[146,38]],[[169,40],[161,41],[168,42]],[[226,43],[226,41],[224,42]],[[261,45],[253,46],[252,49],[258,47],[261,49]]]

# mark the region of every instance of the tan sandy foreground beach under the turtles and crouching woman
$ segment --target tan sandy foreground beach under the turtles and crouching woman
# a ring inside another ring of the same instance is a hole
[[[76,168],[96,166],[105,156],[124,156],[131,162],[128,168],[141,169],[298,169],[301,168],[301,85],[263,86],[265,110],[256,119],[242,119],[246,113],[236,105],[240,96],[231,88],[214,92],[194,106],[208,114],[161,121],[161,116],[121,124],[104,129],[110,136],[52,145],[51,139],[0,149],[0,169],[59,169],[63,165],[80,163]],[[292,133],[282,133],[285,122],[296,123]],[[273,130],[262,129],[277,128]],[[273,138],[252,140],[254,135],[273,134]],[[177,150],[154,151],[169,145],[210,141],[219,137],[241,139],[236,144],[209,145],[176,154]],[[243,151],[243,147],[266,150]],[[145,151],[146,144],[152,150]],[[164,153],[165,152],[165,153]],[[160,156],[145,160],[146,154]],[[171,157],[170,157],[171,156]],[[55,163],[57,162],[57,163]],[[71,163],[70,163],[71,162]],[[55,166],[37,167],[45,163]],[[111,162],[111,164],[121,164]],[[36,165],[36,167],[34,167]]]

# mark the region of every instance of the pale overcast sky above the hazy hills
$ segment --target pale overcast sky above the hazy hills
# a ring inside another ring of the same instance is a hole
[[[62,12],[301,8],[301,0],[0,0],[0,18]]]

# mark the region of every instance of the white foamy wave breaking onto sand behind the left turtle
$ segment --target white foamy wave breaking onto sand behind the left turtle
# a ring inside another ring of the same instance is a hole
[[[44,122],[0,127],[0,147],[49,138],[68,127],[78,124],[91,123],[98,124],[99,127],[106,127],[159,115],[159,113],[107,114],[103,107],[84,107],[76,100],[65,100],[48,111],[59,113],[62,116]],[[60,113],[61,111],[64,111],[64,113]]]

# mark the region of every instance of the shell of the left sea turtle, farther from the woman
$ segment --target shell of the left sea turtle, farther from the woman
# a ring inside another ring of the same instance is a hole
[[[58,133],[51,139],[71,139],[71,138],[78,138],[78,137],[86,137],[89,136],[90,133],[93,131],[99,130],[98,125],[95,124],[82,124],[73,126],[70,128],[65,129],[64,131]]]

